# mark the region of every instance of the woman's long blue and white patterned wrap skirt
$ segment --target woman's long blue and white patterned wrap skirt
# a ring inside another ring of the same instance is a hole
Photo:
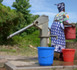
[[[53,22],[51,26],[51,35],[56,35],[56,37],[51,37],[51,46],[55,47],[55,52],[62,52],[65,49],[65,35],[64,26],[60,22]]]

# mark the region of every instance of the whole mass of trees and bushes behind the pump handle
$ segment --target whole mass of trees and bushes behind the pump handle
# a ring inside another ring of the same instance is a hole
[[[12,39],[7,40],[7,36],[31,24],[39,17],[38,15],[30,14],[29,7],[31,5],[29,5],[29,0],[16,0],[13,7],[16,9],[10,9],[10,7],[0,3],[0,44],[8,44],[13,41]],[[36,28],[31,27],[20,35],[25,36],[36,30]]]

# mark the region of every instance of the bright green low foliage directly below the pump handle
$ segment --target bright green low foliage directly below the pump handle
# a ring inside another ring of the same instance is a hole
[[[15,43],[19,45],[21,48],[27,48],[29,45],[33,45],[35,47],[40,46],[40,38],[39,37],[39,30],[36,30],[32,34],[22,36],[15,36],[13,40]]]

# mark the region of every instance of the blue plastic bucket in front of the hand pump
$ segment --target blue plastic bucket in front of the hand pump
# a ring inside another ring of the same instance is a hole
[[[54,47],[37,47],[38,61],[41,66],[51,66],[54,58]]]

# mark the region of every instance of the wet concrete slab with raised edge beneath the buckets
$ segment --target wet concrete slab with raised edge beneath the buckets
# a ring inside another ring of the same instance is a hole
[[[57,64],[56,64],[57,63]],[[9,61],[5,63],[7,70],[73,70],[77,65],[72,63],[54,61],[52,66],[40,66],[37,61]]]

